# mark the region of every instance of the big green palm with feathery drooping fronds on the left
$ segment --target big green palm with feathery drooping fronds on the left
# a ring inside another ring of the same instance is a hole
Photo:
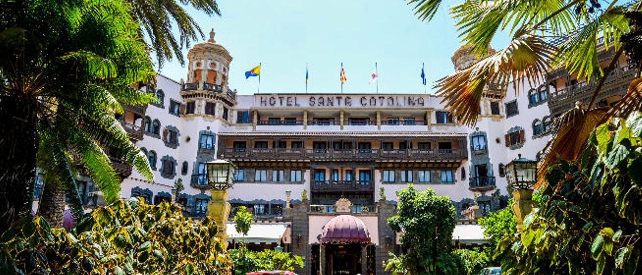
[[[118,197],[107,151],[152,180],[145,155],[114,117],[121,103],[155,100],[132,87],[152,83],[155,73],[130,11],[107,0],[0,3],[0,230],[30,213],[37,164],[45,190],[63,188],[75,217],[83,214],[79,165],[107,202]]]

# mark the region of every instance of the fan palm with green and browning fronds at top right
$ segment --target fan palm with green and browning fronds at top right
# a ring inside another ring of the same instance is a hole
[[[430,20],[440,8],[440,0],[410,0],[415,14],[422,21]],[[453,115],[466,125],[474,125],[482,96],[505,96],[506,89],[485,91],[485,85],[508,87],[516,93],[525,84],[533,84],[554,67],[587,81],[599,81],[591,102],[562,114],[554,122],[555,136],[544,148],[540,175],[557,161],[558,156],[575,159],[587,137],[598,125],[612,116],[642,110],[642,1],[621,5],[613,0],[603,8],[597,0],[467,0],[451,8],[462,43],[470,44],[479,61],[446,76],[436,84],[437,94]],[[507,31],[512,39],[508,45],[490,53],[490,41],[498,31]],[[603,38],[604,46],[614,47],[616,55],[605,69],[600,67],[596,45]],[[561,38],[561,44],[552,39]],[[604,80],[625,52],[637,61],[638,80],[629,93],[612,110],[594,108],[596,96]],[[491,94],[488,94],[491,93]],[[543,177],[540,177],[543,179]]]

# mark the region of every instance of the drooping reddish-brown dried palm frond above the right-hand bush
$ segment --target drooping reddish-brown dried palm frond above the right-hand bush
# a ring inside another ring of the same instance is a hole
[[[586,140],[607,111],[607,107],[586,110],[581,103],[577,103],[575,108],[564,112],[553,121],[551,132],[555,134],[541,151],[542,159],[537,164],[539,182],[535,184],[535,188],[546,181],[544,175],[548,167],[559,162],[560,159],[571,161],[582,154]]]

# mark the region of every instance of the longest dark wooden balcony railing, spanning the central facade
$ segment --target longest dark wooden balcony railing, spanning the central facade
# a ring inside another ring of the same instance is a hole
[[[460,160],[465,154],[459,149],[302,149],[302,148],[223,148],[226,159],[431,159]]]

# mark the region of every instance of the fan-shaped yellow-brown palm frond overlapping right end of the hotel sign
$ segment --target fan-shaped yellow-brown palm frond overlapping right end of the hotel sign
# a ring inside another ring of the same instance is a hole
[[[522,85],[534,85],[550,68],[548,60],[554,50],[541,37],[523,34],[505,49],[438,80],[437,95],[444,98],[442,102],[460,123],[474,125],[485,85],[502,87],[489,92],[491,96],[505,96],[505,88],[511,83],[519,93]]]

